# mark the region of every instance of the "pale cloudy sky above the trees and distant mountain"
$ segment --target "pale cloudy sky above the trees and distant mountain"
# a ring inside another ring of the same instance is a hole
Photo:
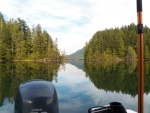
[[[143,24],[150,27],[149,1],[143,0]],[[0,0],[6,20],[40,24],[66,55],[85,46],[100,30],[137,24],[136,0]]]

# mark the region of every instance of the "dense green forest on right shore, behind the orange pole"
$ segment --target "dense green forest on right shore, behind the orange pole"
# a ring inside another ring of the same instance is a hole
[[[97,31],[86,43],[85,59],[137,58],[136,25],[130,24],[121,28]],[[145,58],[150,58],[150,28],[144,27]]]

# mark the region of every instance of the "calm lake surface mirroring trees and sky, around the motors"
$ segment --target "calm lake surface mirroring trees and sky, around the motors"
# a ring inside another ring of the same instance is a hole
[[[59,113],[87,113],[89,107],[121,102],[137,111],[137,62],[0,63],[0,113],[14,113],[20,83],[31,79],[51,81],[56,88]],[[145,63],[144,113],[150,112],[150,62]]]

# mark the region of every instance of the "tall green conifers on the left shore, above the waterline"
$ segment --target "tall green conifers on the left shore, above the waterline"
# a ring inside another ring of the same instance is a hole
[[[40,24],[30,29],[24,20],[5,21],[0,13],[0,60],[58,60],[61,54],[57,38],[53,41]]]

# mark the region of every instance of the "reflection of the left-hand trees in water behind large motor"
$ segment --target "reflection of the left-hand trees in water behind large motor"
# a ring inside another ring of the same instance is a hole
[[[1,62],[0,63],[0,106],[5,98],[10,103],[20,83],[31,79],[57,82],[60,64],[42,62]]]

